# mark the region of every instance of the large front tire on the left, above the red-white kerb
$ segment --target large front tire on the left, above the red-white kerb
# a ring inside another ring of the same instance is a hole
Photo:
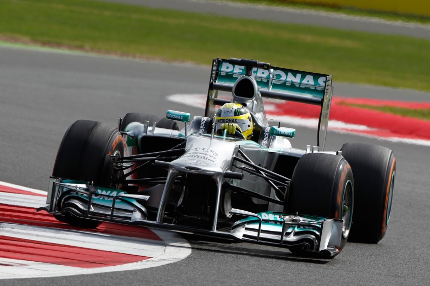
[[[77,120],[63,136],[52,175],[114,187],[112,179],[119,173],[113,170],[108,155],[122,156],[123,153],[122,135],[116,128],[97,121]],[[55,217],[82,227],[97,227],[100,224],[99,221],[78,218],[68,212],[63,215]]]

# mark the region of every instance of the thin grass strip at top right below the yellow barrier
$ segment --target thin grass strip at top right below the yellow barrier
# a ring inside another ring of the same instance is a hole
[[[211,0],[206,0],[210,2]],[[314,11],[323,11],[329,13],[340,13],[350,16],[360,16],[360,17],[372,17],[379,18],[386,21],[402,21],[408,23],[418,23],[418,24],[430,24],[430,17],[418,16],[418,15],[408,15],[408,14],[396,14],[390,12],[379,12],[379,11],[367,11],[362,9],[353,9],[348,7],[334,7],[334,6],[316,6],[312,4],[303,4],[289,1],[289,0],[218,0],[220,2],[237,2],[243,4],[256,4],[274,7],[285,7],[293,9],[307,9]]]

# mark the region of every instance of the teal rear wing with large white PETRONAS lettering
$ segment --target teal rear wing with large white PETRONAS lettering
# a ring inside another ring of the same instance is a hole
[[[239,88],[238,81],[244,77],[256,83],[254,86],[258,90],[252,96],[243,96],[245,94],[243,91],[234,90],[234,88]],[[212,117],[217,105],[230,102],[218,99],[219,90],[231,91],[234,102],[252,101],[259,103],[261,110],[254,107],[253,112],[261,112],[261,118],[264,120],[262,97],[319,105],[321,113],[318,123],[317,145],[319,150],[323,151],[333,92],[331,79],[332,75],[274,67],[269,63],[254,60],[213,59],[205,116]]]

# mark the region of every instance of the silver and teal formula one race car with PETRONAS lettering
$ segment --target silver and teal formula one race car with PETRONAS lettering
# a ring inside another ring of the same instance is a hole
[[[329,258],[348,238],[377,243],[389,224],[396,158],[362,143],[324,151],[331,79],[214,59],[204,116],[128,113],[118,128],[78,120],[60,144],[49,205],[38,211],[82,227],[110,221]],[[263,98],[320,106],[317,146],[292,148],[295,129],[269,126]],[[240,108],[227,118],[217,107],[225,105]],[[247,125],[220,128],[232,122]]]

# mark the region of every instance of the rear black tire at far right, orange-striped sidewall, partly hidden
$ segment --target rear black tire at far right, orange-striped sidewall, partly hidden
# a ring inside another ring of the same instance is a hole
[[[342,156],[354,174],[354,223],[350,241],[378,243],[389,225],[393,202],[396,157],[377,145],[347,143]]]

